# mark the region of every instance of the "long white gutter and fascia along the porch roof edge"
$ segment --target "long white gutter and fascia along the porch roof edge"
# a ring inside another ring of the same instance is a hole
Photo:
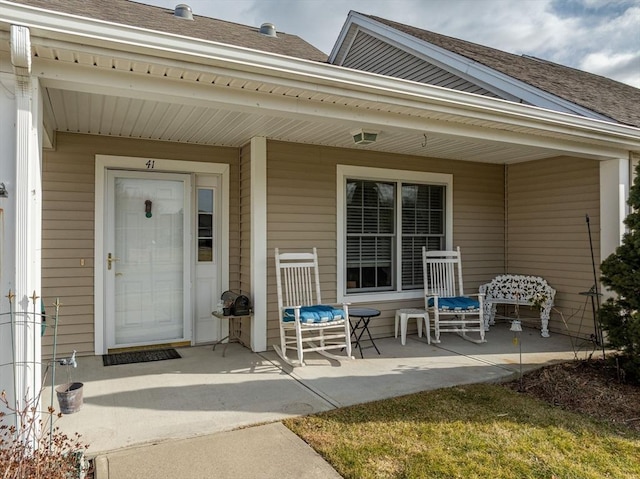
[[[417,110],[446,112],[482,118],[504,129],[536,128],[588,140],[617,143],[615,147],[640,150],[640,129],[593,120],[543,108],[458,92],[417,82],[371,74],[309,60],[259,52],[140,28],[64,15],[0,0],[0,27],[20,24],[34,28],[45,39],[64,38],[76,49],[99,44],[119,54],[132,51],[151,55],[155,61],[172,59],[184,68],[226,67],[228,74],[260,79],[285,86],[324,92],[345,98],[404,105]],[[33,41],[36,39],[34,38]],[[46,45],[45,45],[46,46]],[[134,48],[135,47],[135,48]],[[245,94],[246,91],[243,91]],[[614,146],[614,145],[609,145]]]

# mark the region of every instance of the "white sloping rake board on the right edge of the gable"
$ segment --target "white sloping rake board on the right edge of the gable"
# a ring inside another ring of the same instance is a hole
[[[400,32],[393,27],[376,22],[371,18],[356,13],[352,16],[351,22],[376,38],[384,40],[402,50],[409,51],[418,58],[433,63],[447,71],[451,71],[496,94],[522,99],[541,108],[559,108],[565,113],[574,113],[604,121],[614,121],[606,115],[577,105],[475,60],[416,38],[408,33]],[[346,32],[348,32],[348,28],[345,31],[345,35]]]

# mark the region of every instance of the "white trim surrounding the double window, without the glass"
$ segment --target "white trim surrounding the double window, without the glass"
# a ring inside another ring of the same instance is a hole
[[[366,303],[373,300],[395,301],[421,298],[421,290],[412,291],[375,291],[369,293],[345,294],[345,251],[346,251],[346,217],[345,217],[345,181],[347,178],[381,181],[402,181],[410,183],[426,183],[445,186],[445,247],[453,249],[453,175],[446,173],[428,173],[409,170],[393,170],[386,168],[368,168],[363,166],[337,165],[336,169],[336,232],[337,232],[337,298],[338,302]],[[396,249],[400,248],[396,241]],[[399,252],[396,251],[396,257]],[[400,284],[400,269],[396,268],[396,284]]]

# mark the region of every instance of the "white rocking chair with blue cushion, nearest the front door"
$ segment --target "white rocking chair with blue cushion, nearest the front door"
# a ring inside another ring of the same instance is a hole
[[[320,299],[318,255],[280,253],[275,249],[278,288],[278,323],[280,345],[273,348],[291,366],[304,366],[304,353],[316,351],[332,359],[351,356],[349,309],[346,304],[327,305]],[[298,353],[297,361],[287,357],[287,350]],[[344,355],[327,351],[344,349]]]

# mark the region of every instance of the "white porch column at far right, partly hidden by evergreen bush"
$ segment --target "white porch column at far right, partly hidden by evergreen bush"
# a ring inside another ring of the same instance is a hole
[[[600,162],[600,260],[620,246],[629,213],[627,199],[631,185],[628,158]]]

